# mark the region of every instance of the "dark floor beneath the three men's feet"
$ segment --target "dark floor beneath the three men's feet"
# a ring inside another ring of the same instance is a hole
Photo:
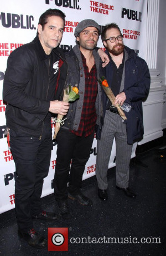
[[[137,157],[132,159],[130,187],[137,193],[136,199],[127,198],[122,191],[115,188],[115,168],[112,168],[108,170],[108,201],[101,201],[98,198],[94,176],[82,183],[82,192],[93,200],[92,207],[69,200],[72,211],[70,220],[60,219],[49,224],[35,221],[34,227],[45,237],[48,227],[68,227],[68,252],[48,252],[48,248],[34,249],[20,240],[17,235],[15,213],[14,210],[10,210],[0,215],[0,255],[166,255],[166,149],[160,149],[165,145],[164,137],[160,145],[144,152],[139,150]],[[43,209],[57,212],[53,194],[46,196],[42,201]],[[70,238],[82,237],[105,237],[115,240],[110,244],[70,243]],[[133,238],[133,242],[136,242],[136,238],[138,242],[132,243]],[[143,243],[141,238],[144,238]],[[147,243],[144,243],[146,241]]]

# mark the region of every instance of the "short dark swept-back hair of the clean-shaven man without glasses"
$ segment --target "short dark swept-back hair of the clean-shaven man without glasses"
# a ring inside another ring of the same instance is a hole
[[[60,18],[62,18],[65,26],[65,17],[66,17],[65,13],[63,13],[59,9],[48,9],[39,18],[38,24],[42,25],[42,29],[44,29],[44,26],[47,23],[48,17],[51,17],[51,16],[59,16]],[[38,32],[37,32],[37,35],[38,35]]]

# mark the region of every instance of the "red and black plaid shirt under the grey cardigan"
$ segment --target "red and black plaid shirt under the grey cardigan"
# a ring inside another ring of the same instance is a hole
[[[72,130],[72,132],[77,136],[86,137],[94,132],[97,119],[95,109],[95,102],[98,92],[96,77],[97,70],[96,65],[94,64],[89,72],[89,68],[86,66],[86,58],[84,55],[82,55],[82,53],[81,57],[85,72],[85,95],[79,129],[77,131]]]

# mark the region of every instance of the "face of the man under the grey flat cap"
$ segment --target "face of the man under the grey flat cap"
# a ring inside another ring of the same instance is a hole
[[[95,27],[87,27],[76,40],[80,43],[80,49],[93,50],[98,41],[98,30]]]

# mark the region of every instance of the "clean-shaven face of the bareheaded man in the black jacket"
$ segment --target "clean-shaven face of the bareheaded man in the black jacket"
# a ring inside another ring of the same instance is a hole
[[[48,17],[44,29],[42,29],[42,25],[38,24],[39,40],[46,55],[49,55],[53,48],[60,44],[63,32],[64,21],[59,16]]]

